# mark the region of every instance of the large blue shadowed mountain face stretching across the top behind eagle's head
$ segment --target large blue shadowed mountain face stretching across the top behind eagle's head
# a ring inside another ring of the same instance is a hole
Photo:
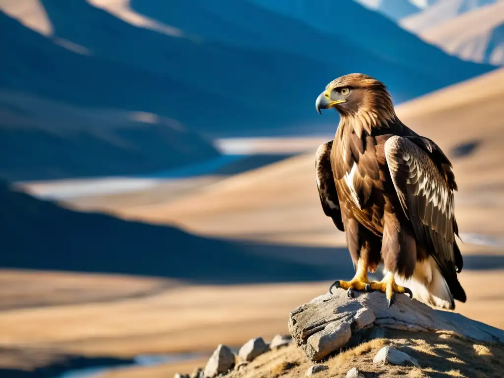
[[[352,2],[323,2],[297,19],[287,3],[273,3],[281,9],[230,0],[131,2],[139,14],[181,30],[172,36],[84,0],[41,0],[53,40],[0,15],[0,48],[8,56],[0,86],[81,106],[153,112],[212,136],[243,136],[288,133],[319,120],[314,98],[349,72],[382,79],[404,101],[491,69],[450,57]],[[335,23],[344,13],[352,17]]]

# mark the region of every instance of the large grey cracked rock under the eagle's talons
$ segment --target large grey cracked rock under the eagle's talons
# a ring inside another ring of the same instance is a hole
[[[502,330],[458,313],[435,310],[406,295],[397,295],[389,308],[381,292],[355,293],[354,298],[349,298],[340,289],[334,295],[321,295],[293,310],[288,324],[293,340],[311,361],[320,361],[346,346],[384,337],[387,329],[449,331],[472,340],[504,343]]]

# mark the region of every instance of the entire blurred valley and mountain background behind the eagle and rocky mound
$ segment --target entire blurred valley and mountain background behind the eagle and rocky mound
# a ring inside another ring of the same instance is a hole
[[[503,328],[504,2],[0,0],[0,376],[169,376],[351,278],[338,76],[454,163],[457,311]]]

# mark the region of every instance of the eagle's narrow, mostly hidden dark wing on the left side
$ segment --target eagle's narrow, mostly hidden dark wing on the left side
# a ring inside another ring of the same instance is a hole
[[[323,143],[317,150],[315,159],[315,174],[319,189],[320,202],[324,213],[333,219],[335,226],[344,231],[341,219],[340,201],[334,184],[333,169],[331,167],[331,149],[333,141]]]

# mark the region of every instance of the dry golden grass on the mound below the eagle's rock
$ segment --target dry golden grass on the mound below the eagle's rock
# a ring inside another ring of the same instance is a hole
[[[470,340],[453,333],[415,333],[407,331],[389,331],[386,339],[376,339],[345,350],[335,356],[329,356],[320,363],[328,369],[317,373],[320,378],[343,378],[347,371],[357,367],[366,376],[395,378],[407,376],[423,377],[467,377],[490,378],[500,376],[504,368],[504,348],[502,345],[481,344],[494,354],[493,357],[481,356],[475,352]],[[442,341],[442,342],[440,342]],[[418,360],[420,366],[375,366],[372,360],[385,345],[390,345]],[[290,345],[279,350],[267,352],[240,370],[233,370],[229,378],[294,378],[303,376],[312,365],[300,349]],[[165,367],[147,368],[145,376],[161,378]],[[190,372],[190,369],[179,372]],[[132,369],[117,370],[105,375],[107,378],[130,378]]]

